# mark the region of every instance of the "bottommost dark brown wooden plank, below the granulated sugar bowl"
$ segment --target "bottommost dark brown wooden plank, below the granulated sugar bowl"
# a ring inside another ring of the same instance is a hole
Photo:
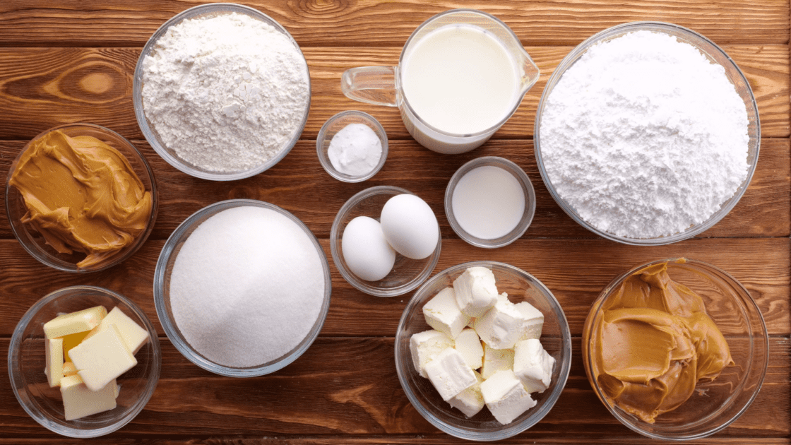
[[[8,345],[9,340],[0,340],[2,360]],[[791,431],[788,416],[777,415],[788,411],[791,397],[789,339],[772,338],[770,350],[770,367],[758,397],[715,438],[779,439]],[[419,434],[464,443],[439,432],[412,407],[395,374],[392,337],[320,338],[289,367],[259,378],[222,378],[202,371],[166,340],[162,352],[157,390],[146,409],[123,428],[125,436]],[[8,386],[7,375],[0,374],[0,387]],[[14,397],[0,400],[0,424],[20,437],[54,436]],[[583,437],[648,442],[619,424],[596,399],[582,366],[580,339],[575,338],[570,378],[557,404],[539,424],[505,443],[558,438],[568,438],[561,443],[579,443]],[[404,440],[414,442],[420,441]]]

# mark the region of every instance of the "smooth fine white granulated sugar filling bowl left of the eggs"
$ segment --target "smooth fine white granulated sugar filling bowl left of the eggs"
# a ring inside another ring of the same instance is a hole
[[[184,242],[170,305],[184,338],[206,358],[254,367],[283,356],[312,329],[324,266],[305,231],[262,207],[206,219]]]

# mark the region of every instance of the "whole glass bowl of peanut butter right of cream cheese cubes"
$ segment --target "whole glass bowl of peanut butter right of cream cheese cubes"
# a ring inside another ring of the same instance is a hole
[[[700,439],[732,424],[758,395],[769,363],[766,325],[750,292],[702,261],[640,264],[593,303],[582,358],[596,396],[654,439]]]

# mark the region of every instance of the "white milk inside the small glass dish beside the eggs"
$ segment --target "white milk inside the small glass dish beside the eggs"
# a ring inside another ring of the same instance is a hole
[[[509,234],[524,214],[524,190],[511,173],[494,165],[471,169],[453,189],[453,216],[468,234],[496,239]]]

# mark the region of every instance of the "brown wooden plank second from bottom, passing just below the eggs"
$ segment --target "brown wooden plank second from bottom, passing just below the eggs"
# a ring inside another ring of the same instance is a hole
[[[330,258],[332,301],[320,335],[393,336],[412,292],[383,299],[363,294],[343,280]],[[153,304],[153,271],[163,242],[149,241],[129,260],[103,272],[57,272],[33,260],[14,240],[0,241],[0,336],[10,336],[17,321],[38,299],[61,287],[89,284],[126,295],[142,307],[163,334]],[[789,238],[702,238],[651,248],[603,239],[520,239],[501,249],[478,249],[456,239],[443,240],[434,273],[467,261],[501,261],[536,276],[560,302],[571,333],[581,335],[591,303],[616,276],[647,261],[688,257],[729,272],[750,291],[767,330],[791,333],[791,241]]]

